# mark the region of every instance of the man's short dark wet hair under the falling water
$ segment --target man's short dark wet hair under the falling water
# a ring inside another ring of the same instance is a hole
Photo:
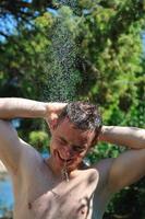
[[[94,104],[82,101],[69,103],[59,115],[58,122],[62,122],[65,117],[78,129],[94,130],[97,136],[100,132],[101,116]]]

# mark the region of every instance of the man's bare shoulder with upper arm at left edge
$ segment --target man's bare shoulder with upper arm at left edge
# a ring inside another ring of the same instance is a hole
[[[19,138],[17,131],[11,123],[0,119],[0,160],[12,177],[19,177],[21,172],[26,170],[28,165],[31,168],[31,163],[34,163],[38,158],[40,154]]]

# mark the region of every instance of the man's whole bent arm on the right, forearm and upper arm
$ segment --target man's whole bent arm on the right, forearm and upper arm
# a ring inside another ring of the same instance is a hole
[[[112,192],[117,192],[145,175],[145,129],[104,126],[99,140],[130,149],[111,162],[108,185]]]

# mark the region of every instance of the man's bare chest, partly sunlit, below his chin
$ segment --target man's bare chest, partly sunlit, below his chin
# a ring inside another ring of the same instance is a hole
[[[90,219],[97,177],[95,171],[84,171],[69,183],[53,184],[49,183],[51,178],[37,173],[22,189],[15,219]]]

